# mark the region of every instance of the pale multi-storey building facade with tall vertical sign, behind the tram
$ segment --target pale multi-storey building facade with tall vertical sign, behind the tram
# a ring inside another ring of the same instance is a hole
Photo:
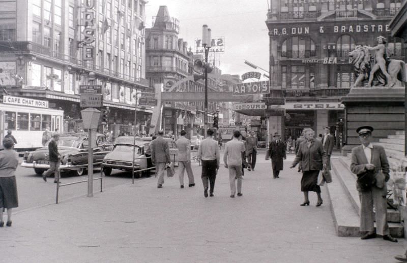
[[[51,108],[63,109],[66,131],[81,129],[79,86],[101,85],[100,110],[108,109],[109,116],[99,130],[114,136],[133,133],[133,94],[149,86],[144,67],[145,4],[144,0],[0,2],[0,85],[11,95],[41,98]],[[136,133],[147,132],[151,112],[137,108]]]

